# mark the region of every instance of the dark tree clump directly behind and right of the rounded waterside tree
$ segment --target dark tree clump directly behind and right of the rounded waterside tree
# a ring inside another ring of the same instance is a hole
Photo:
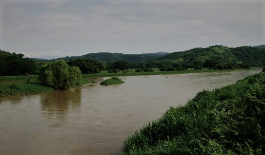
[[[69,66],[77,66],[83,74],[98,73],[104,69],[102,62],[95,59],[77,58],[67,62]]]

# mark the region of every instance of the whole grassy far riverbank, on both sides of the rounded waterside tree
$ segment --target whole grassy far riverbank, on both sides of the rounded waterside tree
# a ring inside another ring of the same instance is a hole
[[[257,69],[257,68],[251,68]],[[245,70],[251,70],[245,69]],[[184,74],[184,73],[204,73],[204,72],[229,72],[242,69],[229,69],[229,70],[213,70],[213,69],[202,69],[202,70],[180,70],[180,71],[159,71],[155,69],[152,72],[136,72],[135,70],[119,71],[117,73],[107,73],[102,71],[97,74],[82,74],[83,78],[86,77],[112,77],[112,76],[135,76],[135,75],[161,75],[161,74]],[[261,69],[262,70],[262,69]],[[89,82],[82,80],[82,85]],[[16,84],[16,86],[12,86]],[[32,88],[31,88],[32,87]],[[18,90],[16,90],[18,89]],[[0,76],[0,96],[16,96],[25,94],[34,94],[43,91],[51,91],[53,88],[47,88],[42,86],[38,81],[38,75],[21,75],[21,76]]]

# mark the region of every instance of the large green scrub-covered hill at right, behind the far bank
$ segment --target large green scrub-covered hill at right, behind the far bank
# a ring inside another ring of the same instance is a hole
[[[265,49],[250,46],[228,48],[216,45],[184,52],[172,52],[149,60],[148,63],[159,67],[163,64],[175,64],[175,66],[184,68],[205,67],[213,69],[265,66]]]

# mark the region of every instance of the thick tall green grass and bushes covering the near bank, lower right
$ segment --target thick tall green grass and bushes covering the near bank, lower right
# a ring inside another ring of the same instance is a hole
[[[264,155],[265,74],[204,90],[124,141],[122,155]]]

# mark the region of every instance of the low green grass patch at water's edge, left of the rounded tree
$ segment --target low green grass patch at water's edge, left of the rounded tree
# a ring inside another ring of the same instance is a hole
[[[13,83],[0,85],[0,97],[34,94],[51,91],[53,88],[41,86],[40,83]]]

